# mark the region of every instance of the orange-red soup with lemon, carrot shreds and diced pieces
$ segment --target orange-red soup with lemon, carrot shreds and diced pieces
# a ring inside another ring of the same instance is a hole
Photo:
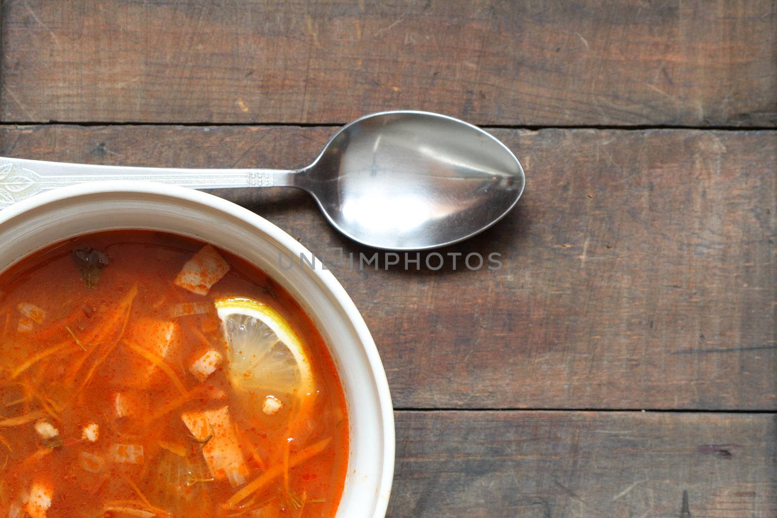
[[[343,389],[274,280],[153,231],[0,275],[0,516],[333,516]]]

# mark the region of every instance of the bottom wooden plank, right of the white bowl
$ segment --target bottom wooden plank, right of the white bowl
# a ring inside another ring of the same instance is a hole
[[[775,415],[396,416],[392,518],[777,516]]]

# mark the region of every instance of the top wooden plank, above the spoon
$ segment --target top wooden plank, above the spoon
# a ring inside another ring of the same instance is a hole
[[[769,0],[5,0],[6,121],[777,123]]]

